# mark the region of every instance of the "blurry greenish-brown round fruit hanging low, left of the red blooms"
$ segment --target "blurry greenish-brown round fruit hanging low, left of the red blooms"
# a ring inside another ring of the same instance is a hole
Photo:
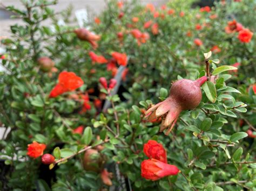
[[[89,149],[84,153],[83,166],[86,171],[99,172],[103,164],[103,158],[95,149]]]

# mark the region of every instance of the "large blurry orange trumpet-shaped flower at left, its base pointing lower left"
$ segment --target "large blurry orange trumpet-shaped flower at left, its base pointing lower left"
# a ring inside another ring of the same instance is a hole
[[[67,91],[73,91],[81,87],[84,82],[73,72],[62,72],[58,77],[58,84],[51,90],[49,97],[57,97]]]

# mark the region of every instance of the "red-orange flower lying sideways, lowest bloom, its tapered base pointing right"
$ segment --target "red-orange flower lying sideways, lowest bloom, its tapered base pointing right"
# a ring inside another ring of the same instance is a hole
[[[179,168],[177,166],[169,165],[156,159],[142,161],[141,168],[142,177],[153,181],[179,173]]]

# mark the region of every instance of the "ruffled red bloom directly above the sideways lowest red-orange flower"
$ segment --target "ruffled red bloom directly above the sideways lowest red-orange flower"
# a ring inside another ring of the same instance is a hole
[[[156,140],[149,140],[146,144],[144,144],[143,152],[150,159],[157,159],[161,162],[167,163],[166,151],[164,146],[160,143],[157,143]]]

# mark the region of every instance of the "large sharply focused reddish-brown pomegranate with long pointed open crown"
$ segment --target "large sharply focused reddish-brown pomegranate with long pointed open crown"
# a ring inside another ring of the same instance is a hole
[[[203,76],[196,81],[182,79],[174,82],[169,97],[145,112],[147,121],[151,122],[161,117],[160,132],[168,128],[165,135],[169,135],[180,112],[194,109],[199,105],[202,99],[200,87],[206,80],[207,77]]]

